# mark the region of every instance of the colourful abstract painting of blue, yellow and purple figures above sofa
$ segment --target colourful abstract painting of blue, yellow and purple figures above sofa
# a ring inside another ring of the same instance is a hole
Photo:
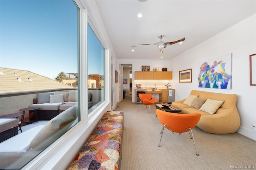
[[[231,89],[232,53],[199,63],[198,87]]]

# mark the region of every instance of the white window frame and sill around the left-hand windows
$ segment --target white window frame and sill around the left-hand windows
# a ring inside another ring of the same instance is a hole
[[[21,169],[63,169],[68,168],[78,150],[82,147],[86,139],[90,136],[94,127],[98,124],[104,113],[111,109],[110,104],[110,49],[106,45],[103,36],[95,28],[96,24],[90,20],[87,2],[73,0],[78,7],[79,16],[79,45],[78,64],[80,78],[78,79],[78,91],[80,93],[80,121],[68,132],[58,138],[53,144],[48,146],[33,160],[28,162]],[[94,2],[95,3],[95,2]],[[90,23],[91,22],[91,23]],[[105,101],[103,101],[90,115],[88,115],[88,83],[87,83],[87,24],[90,24],[94,33],[105,48]],[[83,82],[83,83],[81,83]],[[82,130],[84,129],[84,130]]]

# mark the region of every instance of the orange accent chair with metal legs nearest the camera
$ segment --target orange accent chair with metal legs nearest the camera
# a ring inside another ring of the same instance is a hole
[[[201,114],[200,113],[192,113],[192,114],[179,114],[179,113],[169,113],[166,111],[162,111],[159,109],[156,109],[156,115],[160,121],[160,123],[163,125],[163,128],[161,130],[161,138],[158,147],[160,147],[161,139],[164,133],[164,128],[167,128],[170,130],[173,134],[174,132],[177,132],[180,134],[184,132],[189,132],[190,138],[193,139],[194,146],[196,149],[196,144],[192,132],[192,128],[196,126],[198,123]],[[196,156],[199,156],[199,154],[196,151]]]

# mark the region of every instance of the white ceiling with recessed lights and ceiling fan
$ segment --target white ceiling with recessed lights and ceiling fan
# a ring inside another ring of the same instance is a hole
[[[256,13],[256,0],[96,0],[96,3],[118,59],[161,59],[161,56],[171,59]],[[142,18],[137,17],[138,13],[143,14]],[[184,37],[186,40],[164,48],[164,53],[159,53],[156,45],[139,45],[159,42],[161,34],[164,42]]]

